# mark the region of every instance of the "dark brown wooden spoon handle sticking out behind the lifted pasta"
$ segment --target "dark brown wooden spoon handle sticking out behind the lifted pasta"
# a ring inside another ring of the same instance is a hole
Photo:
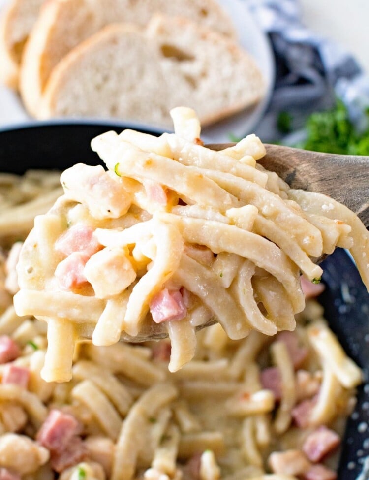
[[[207,147],[223,150],[230,144]],[[281,145],[265,145],[267,154],[257,160],[276,172],[293,189],[323,193],[346,205],[369,227],[369,157],[317,153]]]

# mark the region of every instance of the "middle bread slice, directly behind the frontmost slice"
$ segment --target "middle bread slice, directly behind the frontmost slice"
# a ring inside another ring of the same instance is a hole
[[[117,22],[145,26],[156,12],[183,16],[235,37],[216,0],[49,0],[32,30],[22,64],[21,94],[36,115],[53,68],[80,42]]]

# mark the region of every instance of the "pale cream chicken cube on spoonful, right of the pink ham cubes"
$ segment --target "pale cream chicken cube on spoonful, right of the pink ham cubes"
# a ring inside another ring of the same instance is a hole
[[[122,248],[104,248],[86,263],[84,275],[97,298],[109,298],[125,290],[136,272]]]

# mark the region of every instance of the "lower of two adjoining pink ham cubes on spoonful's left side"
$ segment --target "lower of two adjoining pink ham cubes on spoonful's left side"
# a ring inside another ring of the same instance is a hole
[[[88,283],[84,274],[84,269],[88,256],[74,252],[58,263],[55,269],[55,276],[59,281],[59,286],[63,290],[74,290],[81,288]]]

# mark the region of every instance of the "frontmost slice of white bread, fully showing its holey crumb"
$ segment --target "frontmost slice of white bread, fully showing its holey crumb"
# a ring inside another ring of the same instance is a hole
[[[183,105],[206,125],[263,92],[255,62],[233,40],[184,18],[156,16],[145,30],[110,25],[73,49],[53,70],[39,113],[170,127],[170,109]]]

